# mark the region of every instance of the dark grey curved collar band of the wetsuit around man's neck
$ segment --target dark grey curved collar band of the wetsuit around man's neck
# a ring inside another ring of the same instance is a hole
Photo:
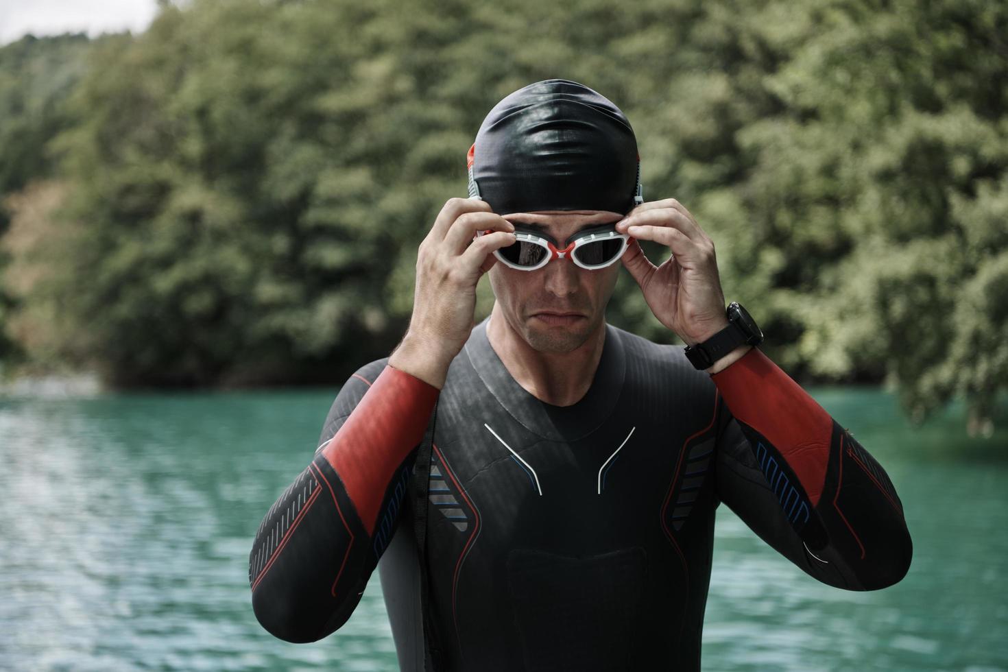
[[[592,433],[609,418],[626,373],[619,329],[606,324],[599,367],[585,396],[572,406],[554,406],[537,399],[511,376],[487,338],[489,321],[486,317],[473,329],[466,355],[486,388],[521,425],[543,438],[573,441]]]

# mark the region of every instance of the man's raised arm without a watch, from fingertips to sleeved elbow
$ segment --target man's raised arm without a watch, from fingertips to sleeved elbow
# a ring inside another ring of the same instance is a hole
[[[476,237],[489,230],[494,233]],[[483,200],[451,198],[420,244],[402,343],[387,366],[372,363],[347,381],[314,459],[256,535],[249,556],[252,608],[276,637],[320,640],[357,607],[391,541],[414,448],[472,331],[476,285],[496,263],[491,253],[514,243],[513,231]]]

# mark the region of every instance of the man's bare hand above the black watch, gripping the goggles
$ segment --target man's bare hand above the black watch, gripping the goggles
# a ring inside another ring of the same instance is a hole
[[[682,204],[675,198],[641,204],[617,223],[616,230],[630,235],[623,265],[640,285],[658,321],[687,346],[703,343],[728,326],[714,241]],[[665,245],[672,254],[655,266],[635,239]]]

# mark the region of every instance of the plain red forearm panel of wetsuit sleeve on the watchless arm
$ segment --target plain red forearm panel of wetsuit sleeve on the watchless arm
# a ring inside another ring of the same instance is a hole
[[[386,366],[322,454],[343,481],[367,530],[374,531],[385,488],[422,440],[440,390]]]

